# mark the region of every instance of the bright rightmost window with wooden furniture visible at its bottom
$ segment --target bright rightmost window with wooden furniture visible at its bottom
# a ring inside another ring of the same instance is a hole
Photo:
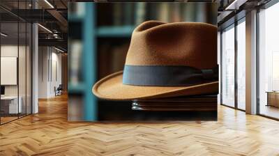
[[[259,12],[259,114],[279,118],[279,3]]]

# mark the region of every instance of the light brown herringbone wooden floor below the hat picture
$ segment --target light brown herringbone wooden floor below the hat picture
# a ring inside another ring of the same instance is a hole
[[[67,97],[0,126],[0,155],[279,155],[279,122],[218,107],[218,121],[68,123]]]

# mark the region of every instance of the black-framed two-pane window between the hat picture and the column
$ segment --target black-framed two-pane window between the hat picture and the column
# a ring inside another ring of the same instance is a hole
[[[221,31],[221,104],[246,108],[245,17]]]

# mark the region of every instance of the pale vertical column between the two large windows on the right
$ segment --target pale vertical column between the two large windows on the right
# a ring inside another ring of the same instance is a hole
[[[246,13],[246,113],[257,114],[257,10]]]

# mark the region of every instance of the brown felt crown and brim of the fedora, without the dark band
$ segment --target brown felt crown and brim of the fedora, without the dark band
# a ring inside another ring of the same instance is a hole
[[[218,66],[217,27],[200,22],[143,22],[132,33],[125,65],[151,68],[185,66],[197,70],[214,68]],[[154,75],[151,72],[151,76],[156,77],[156,72]],[[119,71],[100,79],[92,91],[98,98],[107,100],[216,94],[218,79],[185,86],[133,85],[123,83],[123,71]]]

